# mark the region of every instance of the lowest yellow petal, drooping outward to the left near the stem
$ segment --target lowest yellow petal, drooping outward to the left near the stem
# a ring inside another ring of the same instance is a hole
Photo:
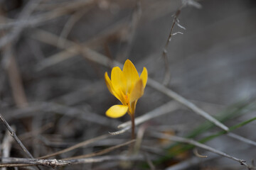
[[[128,107],[123,105],[114,105],[106,111],[106,115],[110,118],[120,118],[127,113]]]

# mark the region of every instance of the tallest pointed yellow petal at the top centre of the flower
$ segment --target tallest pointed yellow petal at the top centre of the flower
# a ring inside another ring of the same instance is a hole
[[[137,69],[134,67],[134,64],[132,64],[130,60],[126,60],[126,62],[124,62],[123,73],[124,77],[127,79],[128,93],[131,93],[134,84],[139,79],[139,74],[137,72]]]

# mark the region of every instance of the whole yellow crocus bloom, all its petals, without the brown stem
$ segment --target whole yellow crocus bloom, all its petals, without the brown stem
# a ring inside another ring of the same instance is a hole
[[[125,113],[129,113],[134,117],[136,104],[139,98],[144,94],[147,81],[147,70],[143,68],[139,77],[137,69],[130,60],[126,60],[124,68],[114,67],[110,77],[105,72],[105,82],[107,89],[115,96],[122,105],[114,105],[106,111],[106,115],[110,118],[119,118]]]

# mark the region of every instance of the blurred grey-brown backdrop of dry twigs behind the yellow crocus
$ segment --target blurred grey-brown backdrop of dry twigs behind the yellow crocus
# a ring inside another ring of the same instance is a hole
[[[124,63],[129,59],[139,72],[146,67],[151,79],[210,115],[227,115],[224,124],[232,127],[255,117],[255,16],[253,0],[0,0],[1,114],[23,137],[33,157],[117,131],[117,125],[128,121],[129,115],[119,119],[105,116],[110,106],[119,103],[105,86],[104,74],[110,74],[114,66],[106,61]],[[146,86],[136,117],[171,100]],[[149,133],[161,130],[186,137],[205,122],[179,106],[137,126],[137,130],[146,126]],[[255,125],[252,122],[233,131],[252,140],[250,144],[222,135],[206,145],[250,164],[256,158]],[[0,130],[4,145],[8,133],[4,125]],[[193,140],[219,131],[207,129]],[[139,163],[127,166],[110,160],[63,169],[174,170],[175,165],[196,157],[188,150],[154,164],[171,152],[166,152],[171,143],[147,133],[142,138],[140,153],[148,158]],[[130,133],[125,132],[54,158],[89,154],[128,140]],[[9,157],[26,157],[16,142],[8,141]],[[127,148],[106,155],[124,154]],[[4,157],[4,148],[1,150]],[[246,169],[231,159],[198,150],[209,155],[208,159],[196,159],[180,169]],[[154,166],[142,168],[144,162]]]

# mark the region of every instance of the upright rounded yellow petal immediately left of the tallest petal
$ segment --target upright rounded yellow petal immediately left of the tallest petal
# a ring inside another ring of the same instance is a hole
[[[121,89],[124,94],[127,93],[127,80],[119,67],[114,67],[112,69],[111,81],[114,91],[119,94],[119,89]]]

